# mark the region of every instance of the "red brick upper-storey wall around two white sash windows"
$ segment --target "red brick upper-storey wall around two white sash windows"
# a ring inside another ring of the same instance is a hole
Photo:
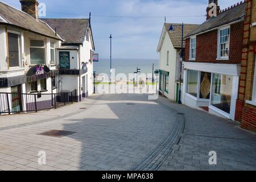
[[[241,64],[243,44],[243,22],[230,26],[229,60],[217,58],[218,30],[196,36],[196,62]],[[185,61],[189,60],[189,39],[186,39]]]

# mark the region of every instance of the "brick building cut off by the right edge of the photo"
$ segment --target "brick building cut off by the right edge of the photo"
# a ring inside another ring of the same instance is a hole
[[[246,1],[243,30],[242,65],[236,120],[241,127],[256,131],[256,1]]]

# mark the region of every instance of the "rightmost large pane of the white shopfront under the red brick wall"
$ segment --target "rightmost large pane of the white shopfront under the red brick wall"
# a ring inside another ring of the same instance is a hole
[[[230,113],[233,77],[213,74],[211,104],[226,113]]]

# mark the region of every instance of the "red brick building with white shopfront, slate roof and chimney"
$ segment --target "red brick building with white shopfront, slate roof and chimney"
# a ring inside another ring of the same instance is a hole
[[[246,6],[220,11],[209,0],[207,20],[185,38],[183,104],[235,120]]]

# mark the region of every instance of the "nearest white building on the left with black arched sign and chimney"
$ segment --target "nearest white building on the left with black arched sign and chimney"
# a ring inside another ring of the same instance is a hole
[[[27,13],[0,2],[0,92],[10,93],[8,100],[1,94],[1,112],[7,101],[10,111],[26,110],[34,97],[22,94],[57,92],[55,49],[62,39],[38,19],[37,1],[20,3]]]

